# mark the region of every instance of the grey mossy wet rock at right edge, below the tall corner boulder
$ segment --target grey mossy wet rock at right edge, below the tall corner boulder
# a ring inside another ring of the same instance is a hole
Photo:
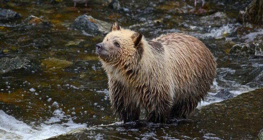
[[[263,56],[263,44],[262,43],[236,44],[230,49],[230,53],[237,54],[239,56],[245,56],[248,58],[252,58],[255,56]]]

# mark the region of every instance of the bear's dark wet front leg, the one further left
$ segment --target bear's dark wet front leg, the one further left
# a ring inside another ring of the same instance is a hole
[[[114,113],[118,115],[121,121],[126,123],[138,120],[141,109],[136,99],[132,97],[131,91],[116,80],[110,81],[109,87],[110,103]]]

